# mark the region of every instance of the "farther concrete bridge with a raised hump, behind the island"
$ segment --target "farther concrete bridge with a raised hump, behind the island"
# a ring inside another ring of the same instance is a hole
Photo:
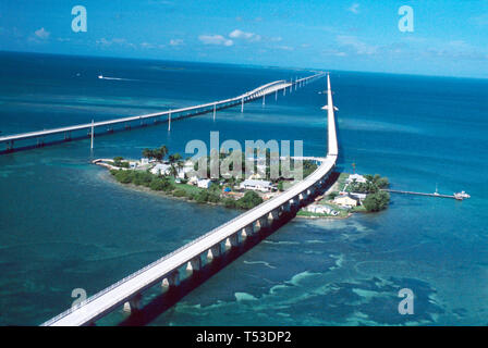
[[[219,101],[212,101],[205,104],[194,105],[194,107],[187,107],[187,108],[181,108],[181,109],[174,109],[174,110],[167,110],[162,112],[156,112],[156,113],[148,113],[144,115],[138,116],[129,116],[129,117],[122,117],[122,119],[114,119],[114,120],[108,120],[108,121],[100,121],[100,122],[91,122],[91,123],[85,123],[85,124],[78,124],[73,126],[65,126],[65,127],[59,127],[53,129],[44,129],[44,130],[37,130],[37,132],[27,132],[22,134],[13,134],[13,135],[5,135],[0,137],[0,144],[5,145],[5,149],[3,151],[0,151],[0,153],[11,152],[14,150],[14,145],[19,144],[20,141],[25,142],[26,140],[35,139],[37,142],[32,142],[30,145],[25,146],[24,148],[35,148],[35,147],[42,147],[47,144],[47,138],[50,138],[52,140],[56,140],[56,142],[60,141],[71,141],[74,139],[83,139],[86,137],[91,137],[91,148],[93,148],[93,138],[95,136],[95,132],[98,128],[98,134],[103,133],[112,133],[114,130],[115,126],[123,126],[123,129],[131,129],[131,127],[135,126],[143,126],[143,125],[149,125],[151,124],[158,124],[160,122],[168,122],[168,130],[171,130],[171,122],[175,120],[186,119],[190,116],[200,115],[205,113],[213,113],[213,119],[216,117],[216,113],[218,110],[232,108],[235,105],[241,105],[241,112],[244,111],[244,103],[254,101],[256,99],[263,98],[263,104],[266,102],[266,96],[268,95],[274,95],[274,99],[278,99],[278,94],[283,92],[283,95],[286,95],[286,90],[289,90],[289,94],[292,92],[293,89],[296,90],[296,88],[305,86],[309,82],[324,77],[324,73],[319,73],[313,76],[304,77],[304,78],[296,78],[295,80],[286,82],[286,80],[277,80],[269,84],[266,84],[264,86],[260,86],[258,88],[255,88],[251,91],[247,91],[241,96],[219,100]],[[78,136],[76,137],[76,133]],[[57,138],[56,138],[57,137]],[[51,141],[52,141],[51,140]]]

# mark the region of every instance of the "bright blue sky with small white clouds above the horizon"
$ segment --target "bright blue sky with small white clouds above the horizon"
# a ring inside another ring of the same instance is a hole
[[[2,0],[0,50],[487,78],[488,0]]]

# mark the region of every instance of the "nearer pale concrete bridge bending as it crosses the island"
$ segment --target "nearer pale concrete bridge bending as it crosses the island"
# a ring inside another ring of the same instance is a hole
[[[320,165],[314,173],[284,192],[192,240],[178,250],[174,250],[47,321],[42,325],[91,325],[100,318],[122,306],[125,310],[137,310],[139,309],[144,290],[157,285],[178,287],[181,268],[192,271],[199,270],[204,259],[212,262],[212,260],[225,252],[225,248],[232,249],[237,247],[244,238],[259,234],[264,227],[270,222],[280,219],[283,213],[296,211],[301,206],[306,204],[310,196],[314,196],[324,188],[328,176],[335,166],[338,158],[334,108],[332,104],[329,76],[327,76],[327,85],[329,149],[325,158],[313,158],[315,161],[320,162]],[[281,89],[282,86],[282,83],[270,85],[268,86],[270,88],[268,90],[272,90],[273,88]],[[265,90],[255,92],[266,94]]]

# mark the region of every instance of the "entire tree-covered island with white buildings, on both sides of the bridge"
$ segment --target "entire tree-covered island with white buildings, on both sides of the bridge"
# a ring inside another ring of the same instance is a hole
[[[222,175],[216,179],[208,178],[211,172],[210,158],[202,158],[203,162],[183,160],[180,153],[170,154],[166,146],[144,149],[142,156],[141,160],[115,157],[98,159],[94,163],[109,169],[117,182],[132,185],[134,188],[144,188],[197,203],[220,204],[243,210],[252,209],[295,184],[294,179],[283,176],[272,178],[273,166],[278,173],[282,173],[283,167],[282,161],[273,162],[269,150],[266,152],[265,163],[259,164],[254,158],[252,159],[254,171],[247,177],[244,167],[248,159],[243,153],[218,153],[216,163],[219,169],[225,161],[235,161],[237,158],[242,161],[242,175],[241,178],[236,178],[235,172],[221,173]],[[290,169],[293,170],[295,161],[293,158],[288,160]],[[207,167],[199,171],[199,163],[206,163]],[[303,178],[317,169],[317,164],[309,160],[304,160],[301,165]],[[390,201],[390,195],[383,190],[388,186],[388,178],[378,174],[332,173],[326,192],[302,208],[296,215],[309,219],[343,219],[356,212],[381,211],[388,208]]]

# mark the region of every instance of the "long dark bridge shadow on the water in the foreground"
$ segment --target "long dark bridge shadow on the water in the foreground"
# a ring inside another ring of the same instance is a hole
[[[264,227],[253,234],[253,236],[248,236],[239,246],[229,249],[212,262],[205,264],[199,271],[193,272],[187,278],[181,281],[179,286],[170,287],[166,293],[154,298],[145,307],[131,313],[130,316],[119,323],[119,326],[143,326],[149,324],[191,291],[223,270],[228,264],[290,222],[295,217],[296,212],[297,210],[295,209],[292,212],[283,213],[270,226]]]

